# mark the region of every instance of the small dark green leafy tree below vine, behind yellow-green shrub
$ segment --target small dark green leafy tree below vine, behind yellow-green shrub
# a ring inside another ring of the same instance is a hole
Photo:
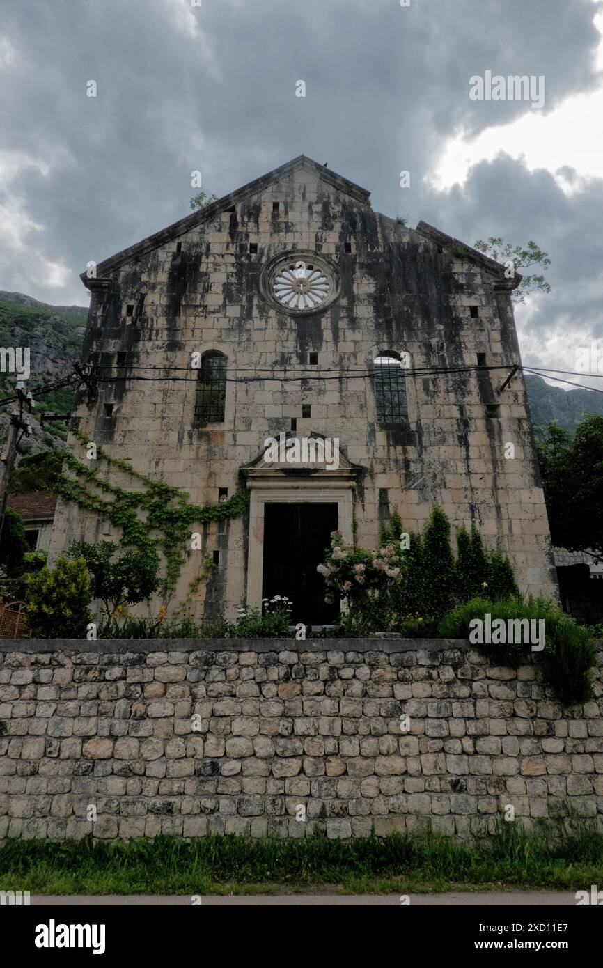
[[[70,557],[86,562],[93,595],[105,605],[107,618],[119,606],[145,601],[159,587],[159,559],[153,551],[131,549],[115,558],[118,550],[113,541],[74,541],[69,550]]]

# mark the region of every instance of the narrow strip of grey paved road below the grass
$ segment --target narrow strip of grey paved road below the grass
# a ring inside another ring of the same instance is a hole
[[[33,905],[65,905],[83,907],[106,907],[110,905],[137,907],[140,905],[151,907],[191,905],[191,897],[178,894],[147,895],[147,894],[99,894],[87,895],[32,895]],[[400,905],[400,894],[218,894],[201,895],[201,905],[204,907],[382,907],[384,905]],[[465,907],[474,905],[487,907],[551,907],[563,905],[575,907],[574,892],[488,892],[488,893],[448,893],[448,894],[410,894],[410,906],[414,907]]]

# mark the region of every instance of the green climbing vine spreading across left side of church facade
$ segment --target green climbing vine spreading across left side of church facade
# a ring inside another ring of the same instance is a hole
[[[88,438],[79,429],[75,430],[75,436],[83,446],[88,444]],[[160,548],[166,559],[166,592],[175,588],[192,526],[204,521],[240,518],[247,507],[247,494],[242,488],[217,504],[192,504],[186,492],[138,473],[128,461],[110,457],[98,444],[96,453],[96,468],[82,464],[74,454],[68,453],[54,492],[79,507],[102,515],[111,525],[120,528],[122,547],[134,545],[155,556]],[[98,469],[98,464],[103,461],[144,485],[145,490],[126,491],[103,480]],[[65,469],[71,470],[74,476],[65,473]],[[104,499],[91,488],[110,496],[109,499]],[[208,573],[206,566],[205,573]]]

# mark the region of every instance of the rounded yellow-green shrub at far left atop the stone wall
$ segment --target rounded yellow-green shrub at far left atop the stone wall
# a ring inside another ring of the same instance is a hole
[[[83,558],[61,555],[54,568],[44,567],[27,582],[27,620],[32,635],[43,639],[77,639],[92,621],[90,575]]]

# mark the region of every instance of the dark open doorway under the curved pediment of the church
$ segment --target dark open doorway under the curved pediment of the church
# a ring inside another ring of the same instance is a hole
[[[339,602],[325,602],[317,572],[337,528],[337,504],[264,504],[262,598],[286,595],[291,623],[323,625],[339,616]]]

